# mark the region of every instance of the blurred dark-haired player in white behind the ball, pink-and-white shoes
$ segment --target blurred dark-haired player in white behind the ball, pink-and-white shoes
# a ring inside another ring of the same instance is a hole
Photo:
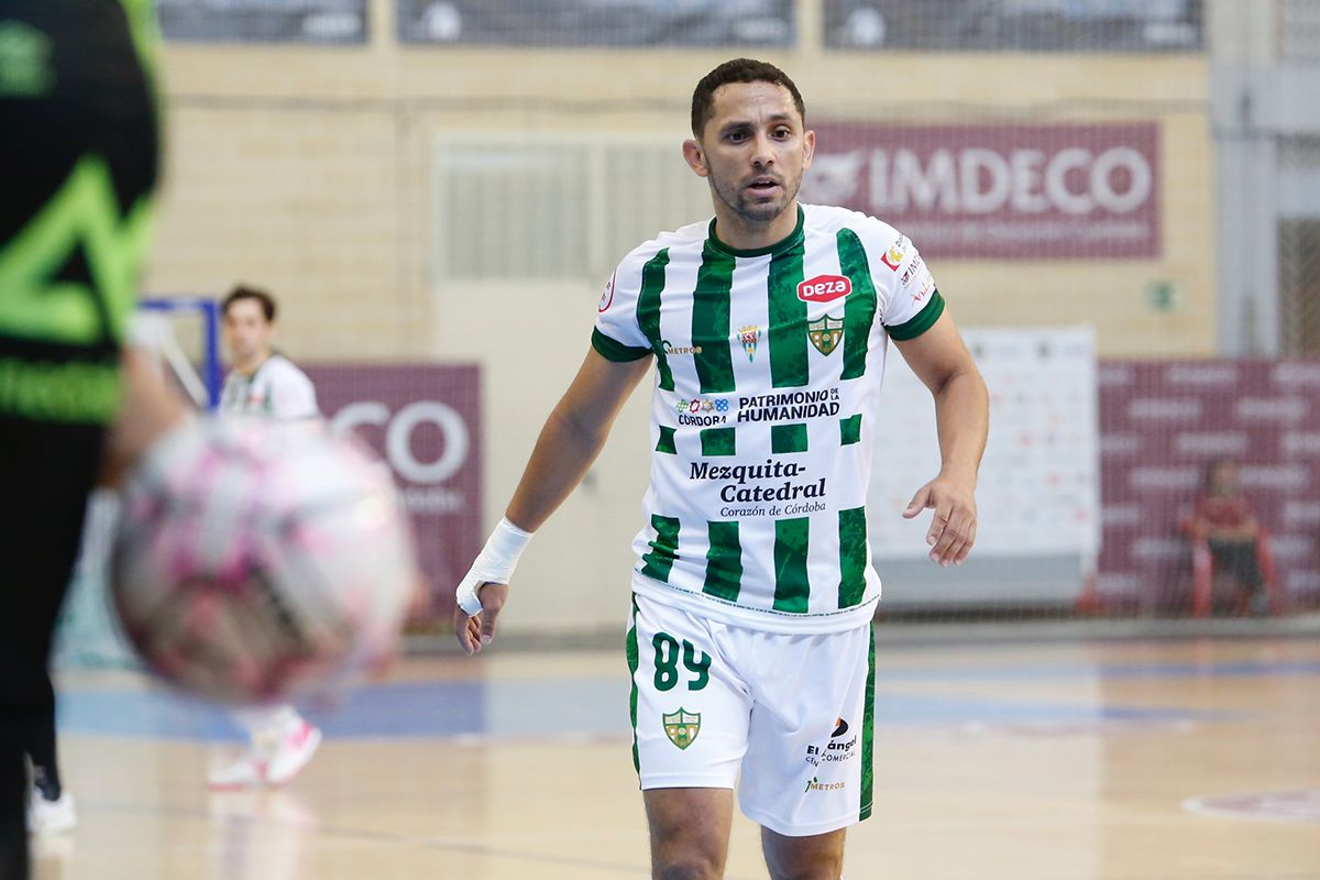
[[[232,369],[224,377],[220,413],[285,421],[321,418],[312,380],[272,347],[275,315],[275,298],[264,290],[239,285],[224,298],[224,344]],[[321,744],[321,731],[293,706],[243,710],[238,718],[248,731],[248,751],[210,773],[207,782],[214,789],[284,785],[308,765]]]

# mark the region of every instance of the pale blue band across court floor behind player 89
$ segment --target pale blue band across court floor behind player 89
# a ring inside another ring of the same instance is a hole
[[[681,702],[681,701],[680,701]],[[334,705],[302,707],[331,739],[624,738],[626,677],[409,682],[358,687]],[[948,727],[1094,727],[1249,718],[1239,712],[1131,707],[961,695],[876,694],[876,724]],[[70,734],[232,741],[243,738],[231,714],[164,689],[61,690],[61,730]]]

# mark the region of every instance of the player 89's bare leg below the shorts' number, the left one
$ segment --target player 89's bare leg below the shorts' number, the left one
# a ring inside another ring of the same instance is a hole
[[[643,792],[653,880],[719,880],[734,821],[730,789]]]

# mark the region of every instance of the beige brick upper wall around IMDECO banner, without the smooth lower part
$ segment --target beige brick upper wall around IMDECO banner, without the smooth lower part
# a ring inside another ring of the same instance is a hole
[[[389,4],[378,3],[376,12],[379,21]],[[672,137],[677,149],[692,83],[725,57],[401,47],[387,38],[392,28],[375,30],[376,42],[358,49],[168,47],[169,186],[152,290],[214,292],[247,277],[288,301],[285,343],[294,354],[446,356],[429,331],[436,310],[447,310],[447,292],[428,270],[437,140],[647,131]],[[1162,257],[935,268],[964,323],[1089,319],[1109,355],[1210,354],[1204,58],[767,57],[793,73],[817,117],[1158,119]],[[701,183],[693,178],[692,186]],[[1183,289],[1179,311],[1148,309],[1144,289],[1156,280]]]

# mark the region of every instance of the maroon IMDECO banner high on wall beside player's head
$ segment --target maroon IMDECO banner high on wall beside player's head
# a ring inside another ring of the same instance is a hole
[[[1160,253],[1156,123],[812,128],[803,199],[878,216],[927,256]]]

